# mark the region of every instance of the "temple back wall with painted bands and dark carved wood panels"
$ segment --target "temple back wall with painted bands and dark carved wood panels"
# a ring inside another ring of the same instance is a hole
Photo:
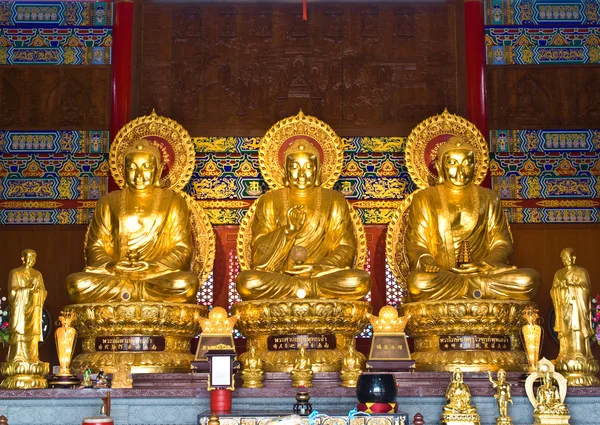
[[[0,279],[23,248],[35,249],[56,318],[67,304],[65,277],[84,267],[95,200],[109,188],[112,3],[64,3],[35,20],[26,3],[0,1],[0,46],[8,46],[0,47]],[[562,248],[575,248],[600,293],[600,16],[588,3],[561,15],[485,1],[486,184],[512,223],[514,263],[542,274],[536,302],[551,358],[549,288]],[[267,189],[258,138],[302,108],[344,138],[336,189],[367,226],[373,304],[386,302],[394,282],[382,229],[414,190],[404,140],[444,108],[468,113],[463,3],[319,3],[304,22],[299,2],[136,1],[135,21],[131,116],[155,109],[190,132],[196,170],[185,190],[217,229],[220,267],[205,301],[234,299],[227,273],[236,226]],[[29,32],[8,31],[19,28]],[[53,38],[54,28],[67,33]],[[53,341],[41,356],[57,363]]]

